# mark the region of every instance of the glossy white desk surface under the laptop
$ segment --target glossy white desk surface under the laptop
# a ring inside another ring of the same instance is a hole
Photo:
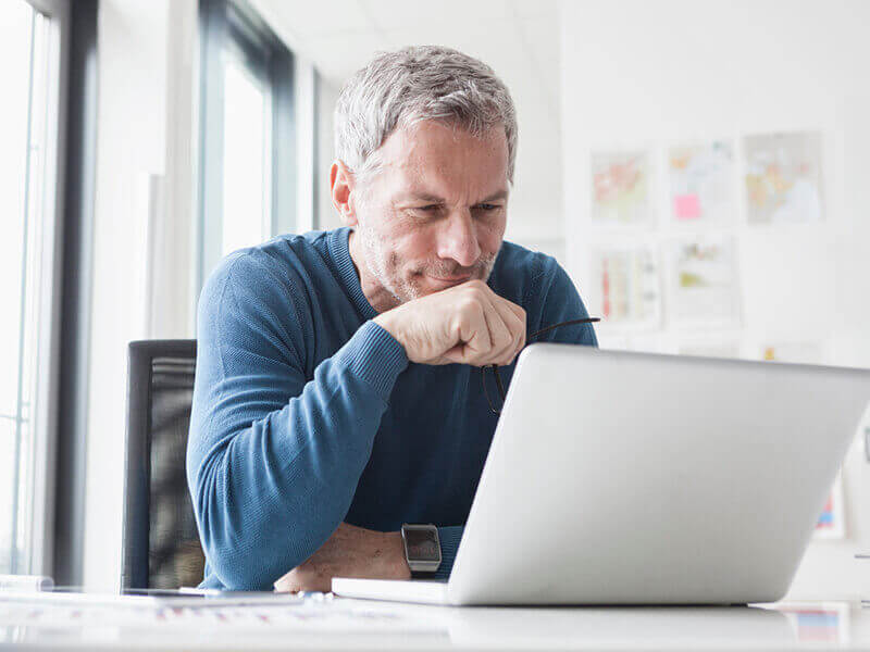
[[[870,650],[857,602],[748,607],[297,605],[107,609],[0,602],[0,649]]]

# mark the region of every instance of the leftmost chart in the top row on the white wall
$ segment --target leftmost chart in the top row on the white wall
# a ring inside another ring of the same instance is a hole
[[[652,220],[646,152],[597,152],[592,155],[592,218],[597,225],[638,226]]]

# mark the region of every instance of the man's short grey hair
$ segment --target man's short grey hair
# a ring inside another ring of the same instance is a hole
[[[502,124],[508,180],[517,160],[517,112],[488,65],[451,48],[414,46],[382,52],[341,88],[335,106],[335,153],[358,179],[374,173],[377,149],[396,128],[435,120],[482,136]]]

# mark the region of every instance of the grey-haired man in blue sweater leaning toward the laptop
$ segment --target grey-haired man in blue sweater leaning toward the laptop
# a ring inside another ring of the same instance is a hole
[[[492,68],[382,54],[335,129],[348,226],[238,251],[200,298],[187,478],[203,587],[408,578],[403,523],[438,527],[448,576],[498,418],[482,368],[508,383],[527,334],[587,316],[554,259],[502,242],[517,121]],[[588,324],[542,339],[597,343]]]

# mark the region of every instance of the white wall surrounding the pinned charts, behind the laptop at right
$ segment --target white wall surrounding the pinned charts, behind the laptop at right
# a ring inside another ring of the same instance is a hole
[[[589,223],[593,150],[820,130],[824,222],[749,228],[737,221],[738,336],[744,353],[768,337],[820,341],[825,362],[870,366],[870,3],[566,1],[560,23],[563,205],[579,287],[598,237]],[[667,231],[667,217],[659,225]],[[589,290],[591,309],[599,310]],[[685,334],[662,335],[667,342]],[[866,592],[852,556],[870,550],[861,455],[853,449],[844,469],[847,538],[810,546],[792,597]]]

